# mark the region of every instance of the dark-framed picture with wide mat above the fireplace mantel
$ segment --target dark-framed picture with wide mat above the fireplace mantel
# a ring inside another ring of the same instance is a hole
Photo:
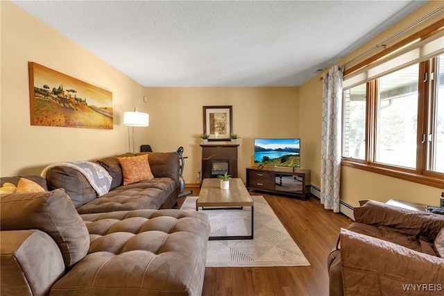
[[[209,141],[229,141],[232,132],[232,106],[203,106],[203,133]]]

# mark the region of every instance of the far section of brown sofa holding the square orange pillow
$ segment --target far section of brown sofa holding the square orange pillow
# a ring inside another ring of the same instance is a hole
[[[146,154],[154,179],[123,185],[119,157]],[[177,152],[126,153],[94,161],[112,176],[110,191],[98,197],[87,178],[72,167],[56,165],[46,172],[49,190],[63,188],[78,213],[104,213],[140,208],[171,208],[179,194],[179,156]]]

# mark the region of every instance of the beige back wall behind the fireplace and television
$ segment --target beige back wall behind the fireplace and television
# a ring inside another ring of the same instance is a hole
[[[300,135],[298,88],[146,88],[146,93],[151,114],[147,144],[154,151],[175,151],[183,146],[184,156],[188,156],[187,183],[196,183],[201,167],[198,135],[203,133],[203,106],[232,106],[233,131],[241,137],[239,177],[244,181],[254,138]],[[305,149],[303,145],[301,149]],[[301,161],[304,165],[303,155]]]

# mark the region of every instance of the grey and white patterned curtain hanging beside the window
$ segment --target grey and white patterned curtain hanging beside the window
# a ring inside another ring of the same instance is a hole
[[[339,66],[323,76],[321,204],[335,213],[339,213],[341,184],[342,77]]]

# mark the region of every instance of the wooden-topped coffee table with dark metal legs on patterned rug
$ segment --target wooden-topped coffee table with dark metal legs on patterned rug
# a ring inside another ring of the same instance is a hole
[[[221,180],[203,179],[199,197],[196,201],[196,211],[202,209],[230,208],[241,209],[244,206],[251,207],[251,235],[250,236],[210,236],[209,240],[253,240],[253,221],[255,202],[239,178],[230,179],[230,188],[221,189]]]

